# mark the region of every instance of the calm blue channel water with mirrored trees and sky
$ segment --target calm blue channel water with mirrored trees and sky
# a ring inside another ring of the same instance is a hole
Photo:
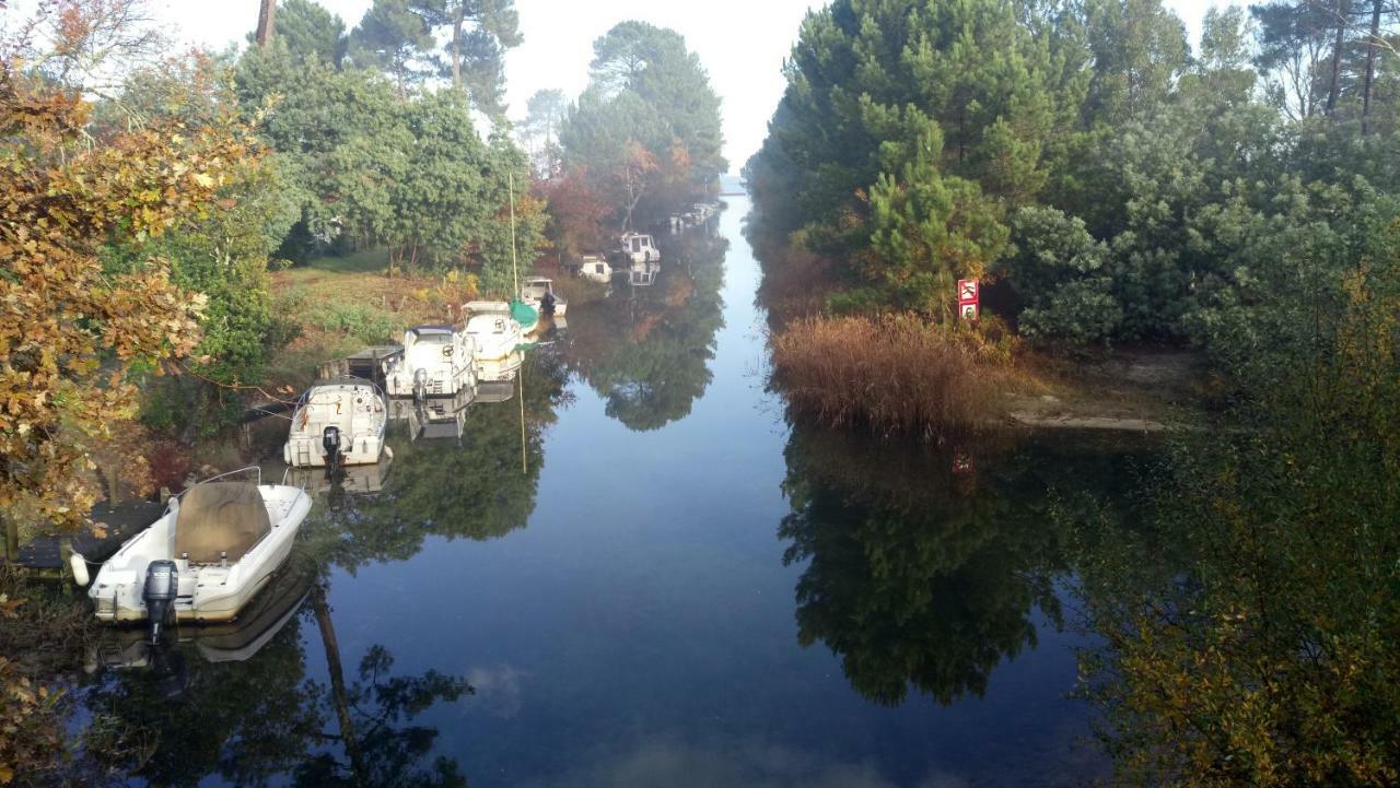
[[[1105,774],[1067,697],[1086,641],[1047,511],[1113,500],[1131,458],[791,427],[746,210],[673,239],[654,286],[571,304],[524,397],[445,414],[441,438],[396,423],[382,479],[316,493],[256,620],[98,669],[104,757],[207,785]],[[106,662],[139,654],[119,645]]]

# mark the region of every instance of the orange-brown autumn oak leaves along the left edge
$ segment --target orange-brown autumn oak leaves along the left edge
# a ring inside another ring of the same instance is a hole
[[[204,298],[167,260],[104,266],[214,204],[251,147],[231,118],[92,136],[77,91],[0,71],[0,511],[80,523],[95,451],[136,414],[134,375],[188,356]]]

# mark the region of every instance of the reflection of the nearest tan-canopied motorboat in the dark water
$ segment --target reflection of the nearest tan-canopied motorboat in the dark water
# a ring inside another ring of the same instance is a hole
[[[235,621],[175,630],[175,644],[195,644],[206,662],[246,662],[287,626],[311,592],[308,571],[277,572]],[[111,630],[88,652],[88,672],[98,668],[146,668],[151,644],[136,630]]]

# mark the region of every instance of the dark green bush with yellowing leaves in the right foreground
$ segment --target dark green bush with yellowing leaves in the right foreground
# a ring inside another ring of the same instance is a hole
[[[1243,428],[1183,438],[1142,522],[1085,528],[1088,689],[1126,781],[1400,777],[1400,225],[1379,235],[1334,300],[1273,291],[1309,319],[1239,349]],[[1142,568],[1154,536],[1170,571]]]

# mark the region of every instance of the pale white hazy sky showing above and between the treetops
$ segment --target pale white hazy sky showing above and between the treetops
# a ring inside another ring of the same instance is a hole
[[[370,0],[319,0],[353,28]],[[1212,0],[1165,0],[1196,41]],[[725,157],[731,171],[763,141],[783,95],[783,57],[809,7],[825,0],[515,0],[525,43],[510,52],[505,78],[511,116],[540,88],[577,97],[588,81],[592,42],[622,20],[644,20],[686,36],[724,99]],[[154,0],[178,38],[211,48],[242,42],[258,22],[256,0]]]

